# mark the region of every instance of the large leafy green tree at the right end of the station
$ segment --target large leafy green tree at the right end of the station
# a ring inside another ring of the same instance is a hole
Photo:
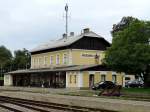
[[[118,72],[144,76],[144,85],[150,87],[150,21],[133,18],[112,35],[106,64]]]

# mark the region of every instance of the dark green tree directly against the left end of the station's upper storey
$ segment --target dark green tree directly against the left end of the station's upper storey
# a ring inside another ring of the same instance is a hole
[[[13,70],[30,68],[30,58],[30,53],[26,49],[15,51]]]

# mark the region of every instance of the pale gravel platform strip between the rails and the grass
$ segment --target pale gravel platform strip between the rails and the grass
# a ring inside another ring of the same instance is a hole
[[[78,91],[78,90],[49,89],[49,91],[51,91],[51,93],[49,92],[48,93],[46,92],[31,93],[31,92],[22,92],[22,91],[14,91],[14,92],[1,91],[0,95],[24,98],[24,99],[30,99],[30,100],[37,100],[37,101],[61,103],[61,104],[74,105],[74,106],[76,105],[76,106],[83,106],[83,107],[115,110],[119,112],[150,112],[150,102],[146,102],[146,101],[131,101],[131,100],[66,96],[66,95],[54,94],[55,92],[60,93],[60,92]]]

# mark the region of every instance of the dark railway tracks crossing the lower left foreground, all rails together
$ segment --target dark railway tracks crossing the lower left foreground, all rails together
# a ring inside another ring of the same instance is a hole
[[[56,104],[50,102],[34,101],[20,98],[0,96],[0,107],[12,112],[115,112],[103,109],[87,108],[80,106],[71,106],[65,104]],[[10,107],[9,105],[13,105]],[[13,108],[17,106],[19,108]],[[28,110],[24,110],[28,109]]]

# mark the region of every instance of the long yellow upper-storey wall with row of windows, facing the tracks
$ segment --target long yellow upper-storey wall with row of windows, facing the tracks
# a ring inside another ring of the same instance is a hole
[[[64,54],[67,55],[67,60],[64,62]],[[57,62],[57,56],[59,61]],[[52,63],[51,63],[52,57]],[[31,68],[49,68],[54,66],[64,66],[69,64],[69,50],[60,50],[35,54],[31,56]]]

